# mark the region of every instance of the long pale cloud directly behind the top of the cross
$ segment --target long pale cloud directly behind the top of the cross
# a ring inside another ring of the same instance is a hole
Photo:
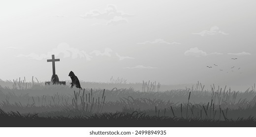
[[[92,56],[86,53],[84,50],[79,50],[78,48],[70,47],[66,43],[61,43],[57,46],[57,48],[53,48],[52,51],[47,52],[47,54],[36,54],[36,53],[30,53],[28,55],[19,54],[16,57],[26,57],[29,59],[34,60],[42,60],[42,59],[49,59],[54,54],[55,56],[58,56],[59,54],[64,54],[64,58],[71,57],[72,59],[75,58],[86,58],[86,60],[90,61]]]

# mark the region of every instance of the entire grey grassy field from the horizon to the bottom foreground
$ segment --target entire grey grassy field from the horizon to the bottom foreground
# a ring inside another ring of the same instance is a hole
[[[149,81],[81,82],[81,86],[88,88],[45,86],[37,79],[0,80],[1,126],[256,126],[255,86],[243,92],[215,85],[206,90],[199,82],[165,91]]]

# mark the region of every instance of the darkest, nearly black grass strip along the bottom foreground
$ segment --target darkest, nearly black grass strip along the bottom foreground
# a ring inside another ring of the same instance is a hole
[[[168,116],[149,116],[145,113],[103,113],[91,116],[22,115],[0,110],[0,127],[256,127],[256,118],[199,119]]]

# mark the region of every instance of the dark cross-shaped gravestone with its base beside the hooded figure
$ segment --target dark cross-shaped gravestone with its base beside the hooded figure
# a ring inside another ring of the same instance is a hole
[[[52,59],[47,60],[47,62],[52,62],[52,66],[53,66],[53,75],[51,77],[51,82],[53,84],[60,84],[60,85],[66,85],[65,81],[59,81],[59,77],[58,75],[55,74],[55,62],[56,61],[60,61],[60,59],[55,59],[54,55],[52,55]],[[50,85],[51,82],[45,82],[45,85],[48,84]]]

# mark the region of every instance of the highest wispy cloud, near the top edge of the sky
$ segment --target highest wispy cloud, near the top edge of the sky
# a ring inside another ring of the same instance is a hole
[[[118,11],[115,5],[107,5],[107,8],[104,12],[100,12],[98,10],[91,10],[86,13],[84,16],[79,16],[83,19],[104,19],[104,20],[112,20],[115,17],[131,17],[131,14],[124,13],[122,11]]]

